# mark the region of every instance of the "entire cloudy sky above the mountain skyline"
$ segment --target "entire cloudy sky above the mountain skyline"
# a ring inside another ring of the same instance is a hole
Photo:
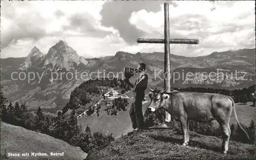
[[[137,38],[164,37],[163,1],[1,2],[1,58],[26,57],[36,46],[47,54],[59,40],[87,58],[117,51],[164,51],[163,44]],[[255,47],[254,1],[173,1],[170,38],[199,39],[198,45],[171,44],[175,55]],[[211,11],[211,8],[215,10]]]

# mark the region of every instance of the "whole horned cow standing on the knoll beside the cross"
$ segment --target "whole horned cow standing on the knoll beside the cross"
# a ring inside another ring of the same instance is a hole
[[[197,122],[217,120],[223,131],[221,150],[223,153],[227,153],[229,136],[231,134],[229,120],[232,109],[234,109],[234,117],[237,120],[238,126],[245,132],[246,137],[249,139],[247,132],[238,121],[235,103],[229,96],[215,93],[179,91],[167,93],[166,90],[160,91],[151,88],[150,90],[152,92],[150,92],[148,96],[151,98],[151,103],[147,106],[147,110],[155,112],[160,108],[164,108],[166,112],[179,120],[183,132],[182,145],[184,146],[186,146],[189,141],[188,120]]]

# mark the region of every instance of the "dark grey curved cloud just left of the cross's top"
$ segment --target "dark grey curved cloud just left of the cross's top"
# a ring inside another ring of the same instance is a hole
[[[136,39],[146,34],[143,29],[137,28],[136,25],[131,24],[129,19],[132,13],[140,10],[148,12],[158,12],[161,9],[161,4],[164,1],[110,1],[103,4],[100,14],[102,16],[101,24],[108,27],[113,27],[118,30],[120,37],[122,37],[129,45],[136,44]],[[175,2],[168,2],[177,7]]]

